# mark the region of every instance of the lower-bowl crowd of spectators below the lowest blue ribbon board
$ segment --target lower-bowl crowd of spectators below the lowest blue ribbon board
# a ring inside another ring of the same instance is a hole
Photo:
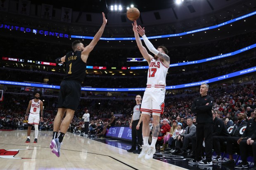
[[[237,116],[235,108],[245,112],[247,107],[251,109],[256,108],[256,84],[244,84],[230,87],[218,87],[211,88],[209,95],[215,98],[215,110],[219,110],[220,117],[233,118]],[[24,120],[28,101],[31,100],[31,94],[12,94],[5,93],[4,100],[0,105],[0,118],[1,127],[17,128],[19,120]],[[44,98],[44,122],[45,125],[50,126],[57,113],[57,97]],[[166,98],[165,109],[162,118],[168,119],[170,122],[176,120],[179,117],[182,123],[186,121],[188,117],[194,117],[194,113],[191,112],[191,105],[194,96],[183,95],[182,97]],[[231,100],[232,99],[232,100]],[[230,104],[232,102],[232,105]],[[100,104],[99,104],[100,103]],[[90,112],[90,120],[97,123],[100,119],[107,120],[111,117],[110,113],[122,114],[116,121],[119,125],[128,125],[131,118],[131,108],[134,105],[133,99],[87,99],[82,98],[80,105],[75,112],[73,123],[81,122],[82,116],[85,110]],[[236,107],[235,107],[236,106]],[[251,114],[251,111],[247,111],[247,114]],[[228,115],[228,116],[227,116]],[[248,115],[251,116],[251,115]],[[40,123],[43,125],[43,123]],[[4,126],[3,126],[4,125]],[[185,125],[185,124],[184,124]],[[45,128],[47,129],[47,128]]]

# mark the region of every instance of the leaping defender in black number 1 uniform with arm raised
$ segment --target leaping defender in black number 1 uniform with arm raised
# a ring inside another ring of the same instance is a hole
[[[63,137],[68,130],[75,110],[79,105],[81,97],[81,84],[85,78],[86,61],[90,52],[100,40],[100,37],[102,36],[104,28],[107,24],[107,19],[105,18],[105,14],[103,12],[102,16],[102,26],[88,46],[84,47],[81,41],[76,40],[72,43],[73,51],[67,53],[66,56],[62,58],[56,59],[56,63],[65,62],[66,64],[66,75],[60,84],[58,112],[54,120],[53,136],[50,143],[52,153],[56,154],[58,157]],[[65,112],[66,116],[63,119]],[[58,131],[60,132],[59,137],[57,137]]]

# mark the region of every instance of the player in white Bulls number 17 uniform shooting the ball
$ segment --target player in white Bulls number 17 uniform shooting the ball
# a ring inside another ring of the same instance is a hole
[[[149,42],[145,35],[145,29],[137,26],[137,22],[133,22],[133,31],[137,46],[140,49],[142,56],[149,64],[147,73],[147,88],[145,90],[141,105],[142,112],[142,135],[143,145],[142,151],[138,158],[145,157],[146,160],[153,158],[156,152],[155,144],[160,131],[159,116],[164,111],[164,97],[166,86],[166,74],[170,67],[170,58],[167,55],[168,50],[164,46],[159,46],[157,49]],[[147,48],[154,54],[154,57],[148,54],[147,49],[142,46],[140,36],[142,36]],[[152,113],[154,127],[152,130],[152,143],[149,146],[149,118]]]

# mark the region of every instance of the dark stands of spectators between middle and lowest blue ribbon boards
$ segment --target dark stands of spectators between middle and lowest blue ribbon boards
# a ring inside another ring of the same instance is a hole
[[[181,72],[177,74],[170,70],[170,73],[166,76],[166,84],[167,86],[174,86],[190,82],[200,82],[214,77],[230,74],[239,70],[251,68],[255,65],[255,56],[251,57],[250,55],[247,55],[247,57],[241,58],[239,61],[234,61],[234,63],[217,66],[206,65],[206,70],[201,68],[191,70],[190,72]],[[53,74],[8,68],[1,68],[1,70],[3,70],[3,72],[0,72],[0,77],[2,80],[6,81],[37,82],[50,85],[59,85],[64,78],[64,74]],[[45,82],[45,78],[49,79],[49,81]],[[141,73],[139,77],[104,77],[87,75],[82,86],[92,86],[94,88],[145,88],[146,83],[147,76],[145,72]]]

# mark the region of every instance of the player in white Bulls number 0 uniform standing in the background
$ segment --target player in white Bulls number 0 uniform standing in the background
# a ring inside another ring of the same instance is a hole
[[[26,110],[26,114],[29,114],[26,143],[30,142],[30,133],[31,133],[32,125],[35,126],[35,140],[34,140],[34,143],[37,143],[40,113],[41,113],[41,121],[43,121],[43,102],[41,100],[39,100],[39,98],[41,96],[41,92],[40,91],[34,91],[33,95],[35,96],[35,98],[28,102],[28,108]]]

